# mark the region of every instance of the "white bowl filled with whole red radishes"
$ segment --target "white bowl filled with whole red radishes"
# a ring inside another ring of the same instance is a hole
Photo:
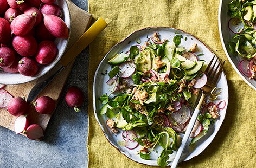
[[[71,19],[65,0],[0,0],[0,83],[38,79],[61,59]]]

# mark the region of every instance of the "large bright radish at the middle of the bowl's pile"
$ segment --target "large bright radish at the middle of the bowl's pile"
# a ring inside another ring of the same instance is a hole
[[[12,40],[12,46],[21,56],[33,56],[37,51],[37,42],[31,35],[16,36]]]

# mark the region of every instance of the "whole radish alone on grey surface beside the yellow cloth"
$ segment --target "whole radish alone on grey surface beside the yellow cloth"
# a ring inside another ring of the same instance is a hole
[[[77,87],[70,87],[65,96],[65,100],[69,107],[74,108],[75,112],[79,112],[79,108],[84,102],[84,94]]]

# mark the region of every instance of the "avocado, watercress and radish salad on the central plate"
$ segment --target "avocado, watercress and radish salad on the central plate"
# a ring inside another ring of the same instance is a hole
[[[207,62],[194,54],[197,44],[184,48],[181,39],[187,40],[178,34],[161,40],[158,33],[144,44],[137,38],[137,45],[108,60],[112,67],[106,82],[110,92],[99,98],[103,104],[99,115],[106,115],[110,131],[123,137],[119,145],[145,160],[161,146],[157,158],[161,167],[180,146],[200,88],[207,82],[203,73]],[[204,101],[190,145],[206,135],[219,117],[219,109],[225,108],[224,100],[213,102],[220,93],[221,88],[214,88]]]

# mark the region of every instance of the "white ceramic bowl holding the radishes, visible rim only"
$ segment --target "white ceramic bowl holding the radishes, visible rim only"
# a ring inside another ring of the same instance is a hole
[[[69,9],[68,9],[68,4],[66,0],[57,0],[56,4],[60,6],[63,16],[62,20],[67,24],[67,27],[69,28],[69,32],[71,30],[71,19],[70,19],[70,14],[69,14]],[[38,79],[39,77],[43,76],[47,72],[49,72],[50,69],[52,69],[57,62],[61,59],[61,56],[64,54],[67,45],[68,45],[69,38],[56,38],[54,43],[56,44],[59,53],[56,56],[56,59],[52,62],[47,64],[46,66],[39,66],[39,72],[33,76],[33,77],[28,77],[28,76],[23,76],[20,73],[5,73],[3,70],[0,70],[0,83],[5,84],[5,85],[17,85],[21,83],[27,83],[30,81],[33,81],[35,79]]]

